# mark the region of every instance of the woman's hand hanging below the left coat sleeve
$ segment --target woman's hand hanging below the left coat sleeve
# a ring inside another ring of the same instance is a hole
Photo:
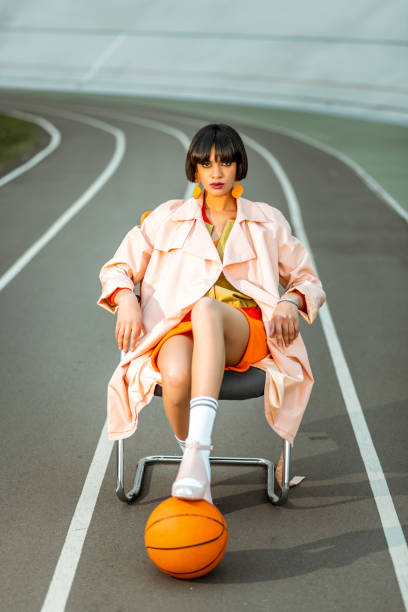
[[[128,350],[130,334],[132,339],[130,350],[136,348],[136,340],[139,338],[142,331],[142,311],[137,301],[137,297],[133,291],[124,289],[116,294],[116,303],[118,304],[115,338],[118,343],[119,350]]]

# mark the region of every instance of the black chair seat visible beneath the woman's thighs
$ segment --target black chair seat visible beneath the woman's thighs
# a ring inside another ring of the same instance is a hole
[[[265,388],[265,372],[251,366],[246,372],[224,372],[219,399],[250,399],[261,397]],[[156,385],[154,394],[162,396],[162,388]]]

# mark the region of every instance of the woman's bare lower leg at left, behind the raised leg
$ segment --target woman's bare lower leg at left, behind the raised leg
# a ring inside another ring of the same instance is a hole
[[[164,410],[173,432],[180,440],[185,440],[188,433],[192,353],[191,336],[178,334],[166,340],[157,356],[163,379]]]

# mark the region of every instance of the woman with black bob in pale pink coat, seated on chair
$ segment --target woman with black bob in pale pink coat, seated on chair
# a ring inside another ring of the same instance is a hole
[[[267,418],[293,442],[313,384],[298,312],[311,323],[325,300],[310,257],[282,213],[241,197],[247,168],[232,127],[201,128],[185,164],[188,180],[196,181],[194,197],[170,200],[146,215],[100,274],[98,304],[117,310],[118,347],[130,350],[125,366],[131,370],[132,359],[138,364],[131,375],[126,371],[126,384],[139,393],[130,410],[133,431],[134,414],[154,388],[140,384],[145,368],[145,381],[149,372],[150,382],[161,377],[164,409],[183,451],[172,495],[211,503],[211,434],[224,370],[244,372],[254,364],[266,370]],[[142,279],[140,307],[133,287]],[[279,283],[286,289],[280,299]],[[296,386],[285,406],[285,388]],[[117,434],[113,427],[111,439],[129,435],[130,429]],[[279,484],[281,465],[282,455]]]

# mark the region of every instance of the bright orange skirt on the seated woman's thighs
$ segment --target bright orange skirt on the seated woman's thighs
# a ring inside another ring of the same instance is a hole
[[[246,370],[249,369],[252,363],[254,363],[255,361],[259,361],[260,359],[263,359],[264,357],[269,355],[269,348],[266,343],[265,327],[262,318],[260,318],[260,309],[256,309],[259,310],[259,312],[256,314],[254,313],[255,317],[253,317],[250,316],[244,308],[240,308],[239,306],[232,306],[232,308],[237,308],[237,310],[240,310],[246,316],[249,323],[249,340],[245,349],[245,353],[242,355],[239,363],[234,366],[226,366],[224,370],[246,372]],[[248,308],[248,310],[251,311],[254,309]],[[156,344],[151,355],[151,363],[156,372],[160,372],[157,366],[157,357],[159,355],[159,351],[162,347],[162,344],[166,342],[166,340],[177,334],[189,334],[190,338],[192,338],[192,327],[193,325],[191,323],[191,314],[190,312],[188,312],[184,319],[180,321],[178,325],[173,327],[173,329],[168,331],[167,334],[160,340],[160,342]]]

